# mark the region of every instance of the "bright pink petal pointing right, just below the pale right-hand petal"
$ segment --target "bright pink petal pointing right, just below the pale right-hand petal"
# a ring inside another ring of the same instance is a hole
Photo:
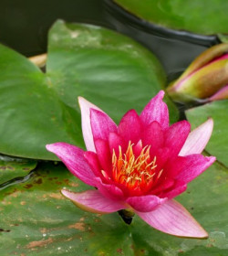
[[[214,156],[203,155],[187,155],[179,156],[179,160],[175,161],[177,179],[189,183],[195,177],[202,174],[216,160]]]

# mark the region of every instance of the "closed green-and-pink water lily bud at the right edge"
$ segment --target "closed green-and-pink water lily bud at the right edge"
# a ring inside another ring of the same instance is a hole
[[[228,99],[228,44],[202,52],[178,80],[167,88],[174,101],[218,101]]]

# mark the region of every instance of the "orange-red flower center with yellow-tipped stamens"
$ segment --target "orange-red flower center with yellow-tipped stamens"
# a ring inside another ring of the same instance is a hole
[[[158,173],[156,167],[156,156],[151,159],[149,145],[143,147],[138,156],[133,152],[133,144],[129,144],[125,154],[122,154],[121,146],[119,146],[119,156],[113,150],[113,179],[131,191],[142,192],[152,187],[163,171]]]

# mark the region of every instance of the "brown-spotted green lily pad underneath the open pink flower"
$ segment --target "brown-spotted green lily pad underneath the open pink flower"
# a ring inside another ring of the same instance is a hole
[[[175,238],[139,217],[130,226],[117,213],[98,215],[77,208],[59,193],[84,191],[63,165],[39,165],[26,184],[0,194],[2,255],[228,255],[228,173],[214,164],[177,199],[209,232],[208,240]],[[175,221],[178,221],[176,219]]]

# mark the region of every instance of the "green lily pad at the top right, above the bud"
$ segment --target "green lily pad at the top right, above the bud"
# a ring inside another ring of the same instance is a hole
[[[228,2],[223,0],[113,0],[131,14],[177,30],[212,35],[227,33]]]

